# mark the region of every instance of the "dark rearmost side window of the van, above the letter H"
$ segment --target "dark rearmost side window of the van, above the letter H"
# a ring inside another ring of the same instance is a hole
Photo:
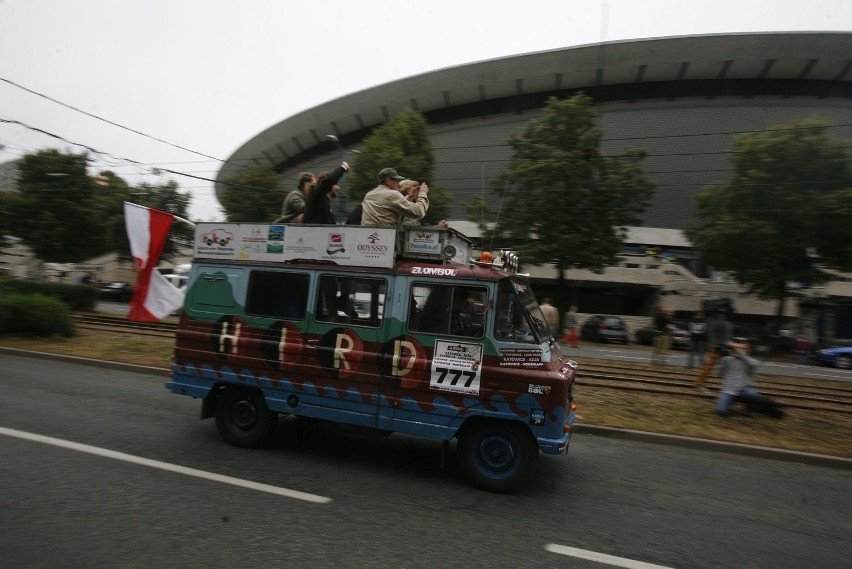
[[[307,273],[252,271],[246,314],[302,320],[308,305]]]

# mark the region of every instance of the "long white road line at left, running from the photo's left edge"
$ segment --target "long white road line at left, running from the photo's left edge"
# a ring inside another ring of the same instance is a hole
[[[0,427],[0,435],[6,435],[7,437],[15,437],[18,439],[23,439],[36,443],[52,445],[60,448],[74,450],[77,452],[85,452],[88,454],[94,454],[96,456],[111,458],[113,460],[122,460],[124,462],[130,462],[132,464],[139,464],[141,466],[149,466],[151,468],[165,470],[167,472],[183,474],[184,476],[194,476],[195,478],[202,478],[204,480],[211,480],[213,482],[221,482],[222,484],[230,484],[232,486],[238,486],[240,488],[246,488],[248,490],[256,490],[258,492],[267,492],[269,494],[275,494],[277,496],[284,496],[285,498],[293,498],[295,500],[302,500],[314,504],[328,504],[329,502],[331,502],[331,498],[326,498],[325,496],[317,496],[316,494],[308,494],[307,492],[299,492],[298,490],[290,490],[288,488],[280,488],[278,486],[271,486],[269,484],[261,484],[260,482],[252,482],[251,480],[243,480],[241,478],[234,478],[232,476],[225,476],[223,474],[215,474],[213,472],[197,470],[195,468],[187,468],[186,466],[179,466],[177,464],[170,464],[168,462],[160,462],[159,460],[152,460],[150,458],[143,458],[141,456],[134,456],[132,454],[126,454],[114,450],[74,443],[62,439],[55,439],[53,437],[45,437],[43,435],[36,435],[34,433],[28,433],[26,431],[18,431],[15,429],[7,429],[5,427]]]

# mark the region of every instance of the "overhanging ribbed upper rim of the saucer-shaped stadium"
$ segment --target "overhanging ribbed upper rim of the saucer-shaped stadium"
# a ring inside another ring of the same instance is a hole
[[[719,34],[608,42],[439,69],[358,91],[271,126],[240,146],[217,176],[249,162],[284,170],[360,141],[413,108],[439,124],[539,108],[578,90],[594,100],[736,95],[852,99],[852,33]]]

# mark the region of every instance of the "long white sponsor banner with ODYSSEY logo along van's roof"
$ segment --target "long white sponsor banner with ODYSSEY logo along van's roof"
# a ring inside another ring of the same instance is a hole
[[[349,225],[199,223],[194,257],[240,261],[332,261],[338,265],[393,267],[396,230]]]

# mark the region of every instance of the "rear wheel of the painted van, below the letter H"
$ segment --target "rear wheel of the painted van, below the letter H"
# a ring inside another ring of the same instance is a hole
[[[277,426],[278,414],[269,410],[257,390],[226,388],[216,401],[216,428],[234,446],[263,446]]]

